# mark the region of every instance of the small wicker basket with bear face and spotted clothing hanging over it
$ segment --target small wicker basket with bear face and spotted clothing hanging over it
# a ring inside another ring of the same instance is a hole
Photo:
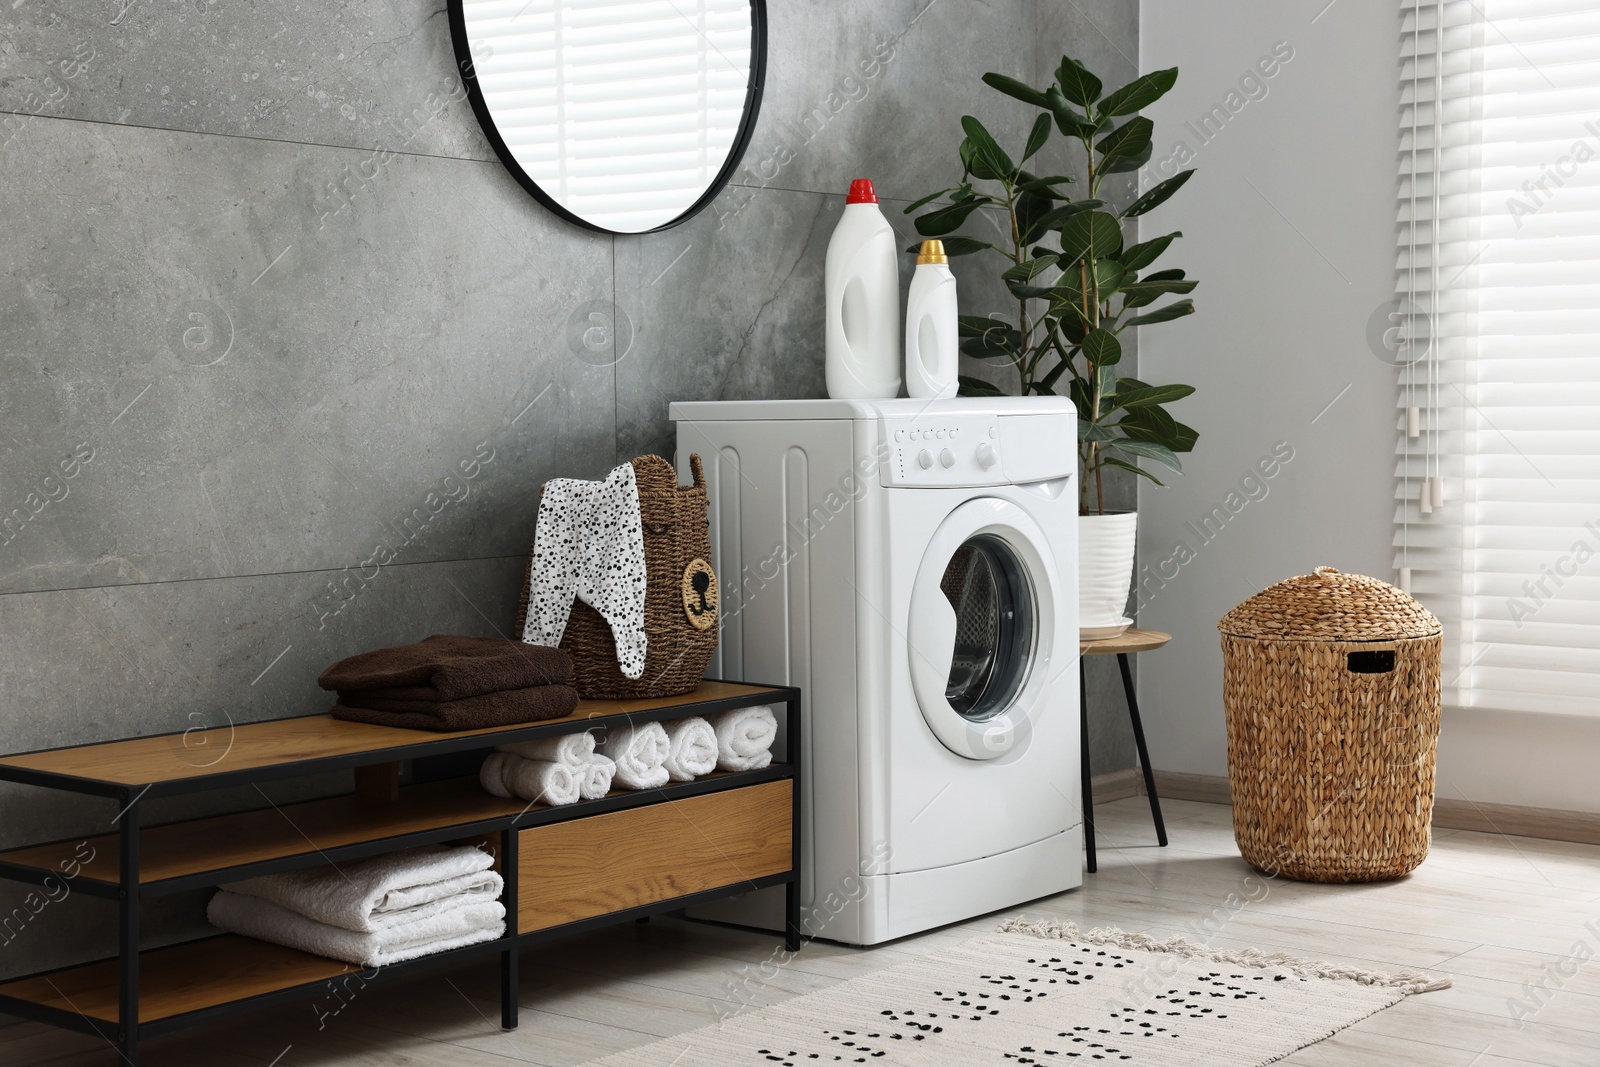
[[[645,526],[645,673],[622,675],[616,640],[598,611],[573,601],[562,648],[573,657],[573,686],[587,699],[675,696],[699,685],[717,651],[717,576],[710,569],[706,520],[706,469],[690,456],[694,485],[680,486],[661,456],[634,462],[638,512]],[[528,617],[533,550],[522,576],[517,630]]]

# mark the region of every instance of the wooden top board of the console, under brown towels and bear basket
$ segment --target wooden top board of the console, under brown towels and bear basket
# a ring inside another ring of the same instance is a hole
[[[214,777],[262,781],[274,769],[309,774],[318,769],[317,763],[354,766],[366,757],[370,757],[368,761],[378,763],[411,758],[413,753],[426,755],[432,750],[486,749],[501,744],[493,739],[493,734],[536,736],[541,731],[550,733],[550,726],[570,726],[614,715],[670,713],[672,709],[688,704],[725,699],[742,699],[749,704],[749,697],[760,693],[773,693],[774,701],[782,699],[782,691],[770,686],[702,681],[699,688],[680,696],[643,701],[584,701],[576,712],[562,718],[451,733],[347,723],[330,715],[280,718],[190,734],[158,734],[5,757],[0,758],[0,779],[8,777],[6,771],[14,771],[29,776],[27,781],[38,776],[59,777],[64,787],[70,787],[69,782],[91,782],[106,787],[158,787]],[[221,755],[213,757],[211,753]],[[13,777],[24,781],[21,776],[13,774]],[[168,790],[157,789],[157,792]]]

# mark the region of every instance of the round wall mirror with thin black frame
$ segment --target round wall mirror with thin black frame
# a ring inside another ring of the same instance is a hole
[[[755,128],[765,0],[450,0],[450,29],[501,162],[594,230],[688,219]]]

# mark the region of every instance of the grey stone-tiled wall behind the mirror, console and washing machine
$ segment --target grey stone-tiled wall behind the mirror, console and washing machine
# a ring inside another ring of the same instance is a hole
[[[0,750],[304,715],[333,659],[507,632],[544,478],[669,450],[669,400],[822,394],[851,178],[909,243],[963,112],[1026,131],[984,70],[1120,75],[1138,35],[1134,0],[770,18],[734,184],[613,240],[494,162],[435,0],[3,5]],[[1130,761],[1106,707],[1098,769]],[[0,846],[114,814],[14,787],[0,811]],[[107,912],[53,904],[0,974],[106,952]]]

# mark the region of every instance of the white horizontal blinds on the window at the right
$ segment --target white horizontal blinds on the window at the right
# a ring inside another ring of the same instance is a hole
[[[1402,3],[1395,566],[1459,707],[1600,715],[1597,53],[1592,0]]]

